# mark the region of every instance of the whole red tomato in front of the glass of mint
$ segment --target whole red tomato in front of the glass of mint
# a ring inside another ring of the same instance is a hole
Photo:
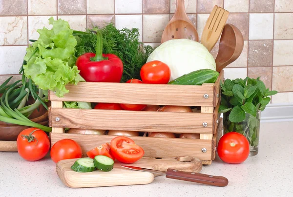
[[[220,138],[217,152],[226,163],[242,163],[249,156],[250,144],[242,134],[229,132]]]

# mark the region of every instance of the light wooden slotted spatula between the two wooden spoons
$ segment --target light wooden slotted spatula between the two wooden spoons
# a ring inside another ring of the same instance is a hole
[[[203,30],[201,43],[209,50],[214,47],[220,38],[229,12],[217,5],[212,9],[206,26]]]

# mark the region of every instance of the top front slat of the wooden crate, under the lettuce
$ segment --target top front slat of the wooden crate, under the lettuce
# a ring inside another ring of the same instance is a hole
[[[79,82],[66,85],[63,98],[53,91],[52,101],[84,101],[150,105],[213,106],[213,86]],[[208,94],[209,98],[204,98]]]

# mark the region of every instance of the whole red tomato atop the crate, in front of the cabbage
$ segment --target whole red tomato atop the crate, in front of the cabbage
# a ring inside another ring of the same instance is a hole
[[[140,76],[144,83],[167,84],[171,77],[171,70],[166,63],[153,60],[142,66]]]

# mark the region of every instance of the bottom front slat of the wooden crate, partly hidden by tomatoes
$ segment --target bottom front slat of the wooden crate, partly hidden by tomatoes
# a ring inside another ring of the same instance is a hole
[[[96,146],[110,142],[116,136],[99,135],[81,135],[81,134],[59,134],[50,133],[51,146],[58,140],[69,138],[80,144],[83,155]],[[149,137],[131,137],[136,144],[141,146],[144,151],[144,157],[155,158],[174,158],[181,156],[192,156],[201,160],[211,160],[214,150],[211,140],[205,139],[180,139],[180,138],[149,138]],[[203,153],[202,148],[207,152]]]

